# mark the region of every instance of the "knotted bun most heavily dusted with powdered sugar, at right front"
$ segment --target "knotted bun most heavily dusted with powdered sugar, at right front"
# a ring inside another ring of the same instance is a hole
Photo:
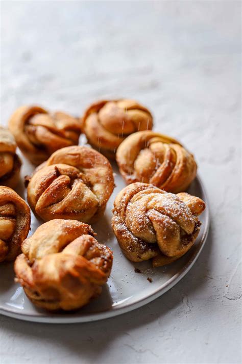
[[[176,261],[195,242],[205,203],[186,192],[174,195],[151,184],[133,183],[114,202],[112,228],[132,262],[152,259],[154,267]]]

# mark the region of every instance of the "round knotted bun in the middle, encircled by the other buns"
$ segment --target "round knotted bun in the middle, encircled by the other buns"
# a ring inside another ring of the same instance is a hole
[[[59,149],[29,180],[28,202],[44,221],[93,222],[105,210],[114,188],[112,167],[86,146]]]

